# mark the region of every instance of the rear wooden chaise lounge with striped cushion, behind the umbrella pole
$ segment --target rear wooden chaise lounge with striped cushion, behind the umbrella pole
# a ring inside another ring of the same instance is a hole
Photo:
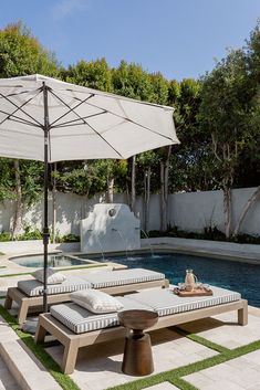
[[[96,288],[115,295],[167,286],[168,281],[164,274],[145,268],[100,271],[89,274],[81,273],[79,276],[69,274],[64,282],[48,285],[48,303],[52,305],[69,302],[72,292],[85,288]],[[29,309],[42,307],[42,292],[41,282],[20,281],[18,287],[8,288],[4,307],[10,309],[12,302],[15,302],[19,306],[18,324],[22,325],[27,320]]]

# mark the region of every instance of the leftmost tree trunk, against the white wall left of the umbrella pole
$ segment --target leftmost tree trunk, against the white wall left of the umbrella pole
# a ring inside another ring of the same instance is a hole
[[[20,177],[20,166],[19,160],[13,161],[14,175],[15,175],[15,209],[13,217],[13,229],[12,229],[12,239],[15,239],[17,235],[22,233],[22,187],[21,187],[21,177]]]

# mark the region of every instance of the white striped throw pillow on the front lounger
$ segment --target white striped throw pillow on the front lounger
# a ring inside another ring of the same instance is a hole
[[[113,296],[96,289],[74,292],[71,294],[71,301],[95,314],[118,312],[124,307]]]

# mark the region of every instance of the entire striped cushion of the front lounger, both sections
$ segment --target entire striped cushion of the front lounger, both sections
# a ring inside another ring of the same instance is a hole
[[[157,312],[159,317],[216,306],[241,298],[239,293],[225,288],[212,287],[212,296],[184,298],[175,295],[170,289],[149,289],[116,298],[124,306],[122,310],[146,309]],[[116,313],[93,314],[74,303],[52,306],[50,312],[53,317],[75,334],[118,325]]]

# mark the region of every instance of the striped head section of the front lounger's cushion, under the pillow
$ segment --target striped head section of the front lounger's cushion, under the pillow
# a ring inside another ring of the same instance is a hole
[[[133,308],[150,309],[148,306],[133,302],[127,297],[117,297],[124,310]],[[118,325],[117,313],[93,314],[75,303],[51,306],[51,315],[75,334],[104,329]]]

